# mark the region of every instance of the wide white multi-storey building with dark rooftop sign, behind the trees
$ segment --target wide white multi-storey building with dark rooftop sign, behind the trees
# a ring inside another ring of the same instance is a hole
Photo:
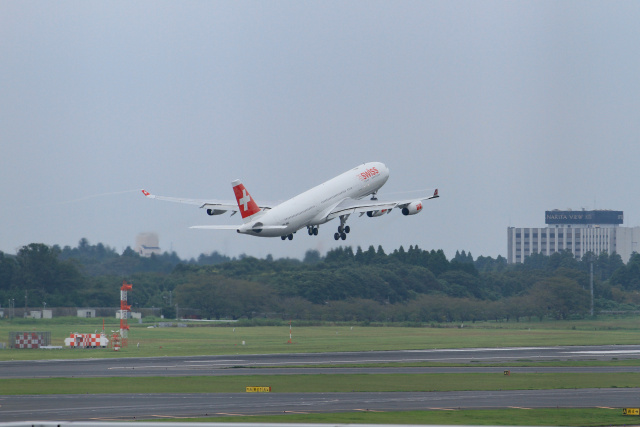
[[[544,228],[507,229],[507,262],[524,262],[534,253],[551,255],[570,250],[577,259],[587,252],[616,252],[623,262],[639,252],[640,227],[621,227],[622,211],[546,211]]]

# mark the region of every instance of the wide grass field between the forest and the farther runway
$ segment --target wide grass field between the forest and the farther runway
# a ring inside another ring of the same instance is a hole
[[[245,327],[239,324],[207,327],[149,328],[154,323],[131,324],[129,346],[112,350],[4,350],[0,360],[75,359],[101,357],[153,357],[215,354],[309,353],[463,347],[520,347],[549,345],[610,345],[640,343],[640,318],[565,322],[482,322],[425,327],[289,326]],[[115,319],[105,319],[105,330],[118,329]],[[10,331],[50,331],[52,345],[63,346],[71,332],[102,330],[102,319],[0,320],[0,342]],[[243,344],[244,343],[244,344]],[[138,345],[139,344],[139,345]]]

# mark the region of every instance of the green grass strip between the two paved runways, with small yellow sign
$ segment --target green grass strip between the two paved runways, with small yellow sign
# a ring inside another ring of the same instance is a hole
[[[545,390],[638,387],[639,373],[518,374],[331,374],[136,378],[3,379],[4,395],[84,393],[243,393],[270,386],[272,392],[393,392]]]

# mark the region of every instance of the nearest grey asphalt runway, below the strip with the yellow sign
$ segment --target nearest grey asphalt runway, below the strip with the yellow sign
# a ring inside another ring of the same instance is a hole
[[[131,421],[225,415],[497,408],[635,407],[640,389],[427,393],[205,393],[3,396],[0,419]]]

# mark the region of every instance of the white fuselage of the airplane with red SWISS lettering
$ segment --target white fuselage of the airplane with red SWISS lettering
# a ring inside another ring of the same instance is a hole
[[[389,169],[383,163],[365,163],[256,215],[257,218],[243,224],[238,233],[278,237],[295,233],[303,227],[324,224],[332,219],[327,215],[340,202],[373,194],[387,179]],[[285,228],[260,229],[260,225]]]

